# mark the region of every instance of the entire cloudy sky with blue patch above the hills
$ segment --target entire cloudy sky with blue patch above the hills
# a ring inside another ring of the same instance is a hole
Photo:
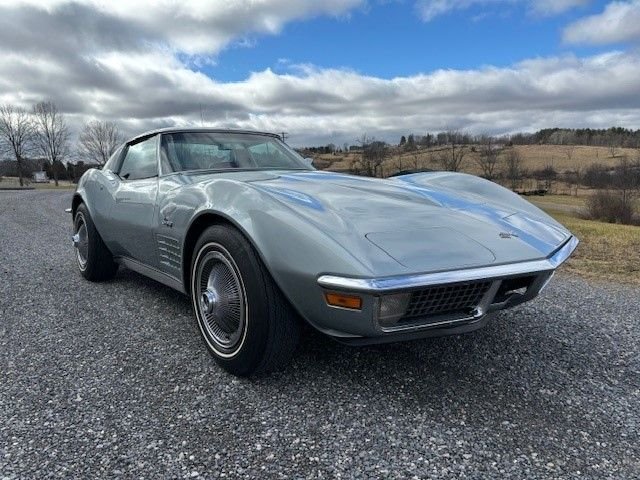
[[[127,133],[640,128],[640,0],[0,0],[0,103]]]

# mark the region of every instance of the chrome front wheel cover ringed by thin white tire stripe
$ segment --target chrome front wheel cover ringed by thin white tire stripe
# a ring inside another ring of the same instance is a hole
[[[246,333],[247,303],[238,267],[220,245],[203,248],[196,263],[193,302],[201,328],[214,350],[223,356],[234,355]]]

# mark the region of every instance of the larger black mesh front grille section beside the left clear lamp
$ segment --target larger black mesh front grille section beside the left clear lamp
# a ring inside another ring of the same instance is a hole
[[[486,281],[437,285],[417,290],[411,294],[407,312],[400,321],[440,315],[471,315],[489,288],[491,282]]]

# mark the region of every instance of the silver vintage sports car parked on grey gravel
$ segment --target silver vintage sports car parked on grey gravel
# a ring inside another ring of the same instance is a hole
[[[137,136],[83,175],[71,212],[86,279],[123,265],[189,295],[236,375],[286,363],[301,319],[352,344],[476,330],[538,295],[578,244],[487,180],[320,172],[247,131]]]

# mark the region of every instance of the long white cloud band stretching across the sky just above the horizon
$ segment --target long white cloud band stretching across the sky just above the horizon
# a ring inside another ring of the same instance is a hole
[[[131,133],[199,124],[203,106],[207,125],[284,130],[294,143],[353,141],[365,131],[395,139],[446,127],[504,133],[640,124],[640,57],[619,52],[390,80],[306,66],[295,73],[265,70],[240,82],[216,82],[168,52],[110,53],[95,58],[93,66],[110,78],[109,86],[96,88],[50,61],[4,57],[0,101],[53,98],[78,121],[125,119]],[[7,73],[16,70],[29,80],[8,81]]]

